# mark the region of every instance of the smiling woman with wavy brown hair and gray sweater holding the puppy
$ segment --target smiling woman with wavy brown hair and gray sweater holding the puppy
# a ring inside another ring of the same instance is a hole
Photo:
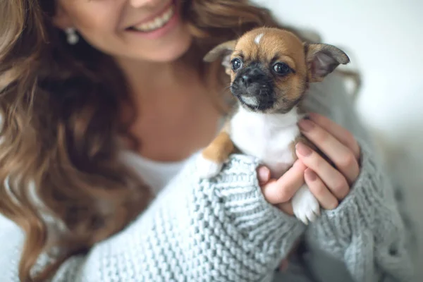
[[[321,115],[300,122],[336,168],[300,145],[278,180],[239,155],[195,177],[226,106],[227,79],[202,56],[278,25],[268,11],[17,0],[0,18],[0,212],[14,222],[1,223],[1,281],[410,279],[391,188],[336,75],[307,97]],[[290,207],[304,179],[323,208],[307,228]]]

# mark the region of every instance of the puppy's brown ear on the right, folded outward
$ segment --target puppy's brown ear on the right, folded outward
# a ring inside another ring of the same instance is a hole
[[[350,62],[347,54],[329,44],[304,44],[310,82],[324,80],[341,63]]]

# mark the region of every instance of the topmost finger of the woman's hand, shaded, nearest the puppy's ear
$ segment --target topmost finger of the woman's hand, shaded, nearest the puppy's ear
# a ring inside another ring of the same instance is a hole
[[[360,159],[360,146],[350,131],[346,130],[341,125],[334,123],[331,121],[331,119],[326,118],[326,116],[321,116],[315,113],[312,113],[309,116],[314,123],[319,125],[321,128],[333,135],[333,137],[339,140],[339,142],[348,147],[351,152],[353,152],[355,159]]]

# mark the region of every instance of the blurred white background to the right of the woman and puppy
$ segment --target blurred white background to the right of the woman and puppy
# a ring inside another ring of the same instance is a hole
[[[344,49],[362,74],[355,106],[403,187],[420,242],[416,264],[423,266],[423,1],[255,2]]]

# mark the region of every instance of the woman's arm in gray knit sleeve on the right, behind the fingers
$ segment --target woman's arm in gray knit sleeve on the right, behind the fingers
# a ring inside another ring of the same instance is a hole
[[[309,109],[347,128],[360,145],[360,174],[349,194],[307,228],[309,267],[321,281],[337,281],[345,274],[357,282],[412,281],[405,228],[391,183],[381,170],[374,145],[345,94],[342,80],[332,75],[314,86],[309,98]],[[316,124],[324,122],[324,118],[315,120]],[[324,135],[315,134],[319,127],[312,130],[307,135],[314,137],[317,145],[328,142]],[[307,163],[307,159],[302,161]],[[348,271],[341,272],[343,266]]]

